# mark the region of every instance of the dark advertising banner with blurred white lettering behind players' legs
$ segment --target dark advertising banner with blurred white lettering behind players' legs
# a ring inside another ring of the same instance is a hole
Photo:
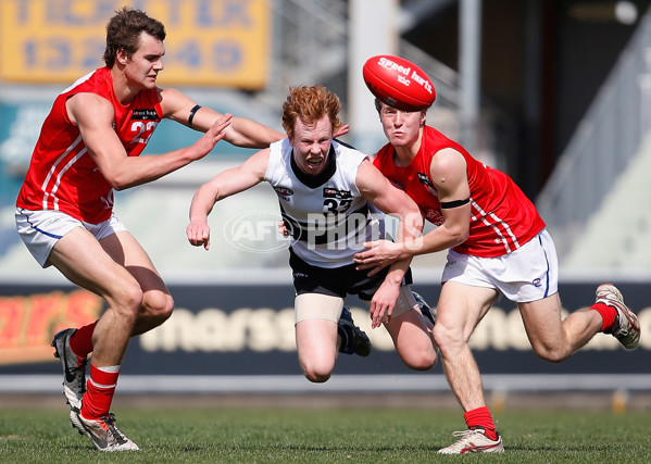
[[[647,284],[617,286],[636,310],[642,333],[651,330]],[[579,311],[593,301],[593,284],[562,284],[563,309]],[[440,286],[416,286],[431,304]],[[137,375],[300,375],[293,337],[291,285],[170,285],[174,315],[161,327],[134,338],[123,363]],[[59,374],[49,342],[63,328],[95,321],[102,301],[75,287],[0,285],[0,375]],[[337,374],[410,374],[384,328],[371,329],[368,312],[349,298],[355,323],[370,336],[368,358],[340,355]],[[649,337],[624,350],[598,335],[569,360],[539,360],[527,340],[519,312],[502,299],[481,321],[471,344],[484,374],[650,374]],[[440,365],[433,373],[442,373]]]

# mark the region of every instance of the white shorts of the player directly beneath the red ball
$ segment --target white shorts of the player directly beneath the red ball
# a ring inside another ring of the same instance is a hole
[[[450,249],[442,283],[494,288],[516,303],[541,300],[559,290],[556,248],[547,231],[498,258],[478,258]]]

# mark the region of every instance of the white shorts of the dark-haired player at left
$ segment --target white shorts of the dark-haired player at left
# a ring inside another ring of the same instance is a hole
[[[98,240],[109,237],[121,230],[126,230],[117,217],[111,214],[111,218],[99,224],[85,223],[62,213],[61,211],[29,211],[16,208],[16,228],[27,250],[36,259],[41,267],[48,267],[48,258],[57,241],[75,227],[84,227]]]

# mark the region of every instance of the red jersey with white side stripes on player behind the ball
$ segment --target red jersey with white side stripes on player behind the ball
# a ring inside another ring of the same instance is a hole
[[[465,158],[471,189],[470,236],[454,251],[480,258],[501,256],[544,228],[536,206],[508,175],[475,160],[461,145],[433,127],[425,126],[418,153],[409,166],[396,166],[390,143],[379,150],[374,164],[416,202],[427,221],[440,226],[443,216],[430,166],[431,159],[445,148],[452,148]]]

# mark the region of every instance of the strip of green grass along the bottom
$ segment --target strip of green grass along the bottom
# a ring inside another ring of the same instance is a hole
[[[502,455],[436,451],[464,428],[460,410],[116,409],[139,452],[101,453],[66,410],[0,410],[2,463],[646,463],[651,414],[508,410],[496,414]]]

